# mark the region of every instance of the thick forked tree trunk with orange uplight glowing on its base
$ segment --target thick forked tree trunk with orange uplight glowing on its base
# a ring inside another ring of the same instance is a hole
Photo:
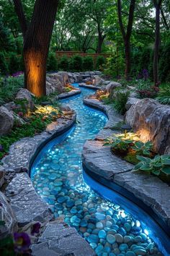
[[[24,38],[24,85],[37,97],[46,94],[46,64],[60,0],[36,0],[28,24],[21,0],[13,0]]]

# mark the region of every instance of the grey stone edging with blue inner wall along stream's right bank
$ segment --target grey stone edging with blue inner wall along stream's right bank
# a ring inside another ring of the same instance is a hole
[[[102,102],[84,98],[84,104],[98,108],[107,114],[109,121],[94,140],[87,140],[84,144],[82,161],[85,170],[97,182],[104,184],[124,197],[128,197],[140,208],[146,210],[170,236],[170,188],[156,176],[146,176],[133,172],[133,164],[123,161],[110,151],[110,147],[103,147],[105,138],[117,131],[110,129],[121,116]]]

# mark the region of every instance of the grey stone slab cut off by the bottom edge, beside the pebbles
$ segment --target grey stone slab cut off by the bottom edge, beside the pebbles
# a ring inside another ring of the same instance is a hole
[[[76,229],[63,223],[48,223],[45,231],[33,244],[32,256],[94,256],[95,252],[77,233]]]

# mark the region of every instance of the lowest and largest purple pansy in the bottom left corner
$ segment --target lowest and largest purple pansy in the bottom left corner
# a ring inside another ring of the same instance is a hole
[[[27,233],[14,233],[14,246],[16,252],[27,252],[30,245],[30,236]]]

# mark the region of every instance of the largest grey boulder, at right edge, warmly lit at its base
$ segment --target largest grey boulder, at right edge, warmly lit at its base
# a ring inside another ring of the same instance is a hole
[[[143,142],[153,142],[156,153],[164,154],[170,145],[170,107],[151,98],[132,105],[125,121],[133,127]]]

